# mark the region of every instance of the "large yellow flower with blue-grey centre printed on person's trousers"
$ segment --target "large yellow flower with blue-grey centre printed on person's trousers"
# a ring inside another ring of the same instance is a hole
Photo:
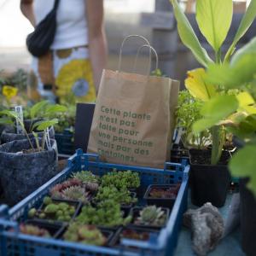
[[[63,65],[55,79],[55,84],[56,96],[59,96],[60,100],[73,95],[76,102],[96,101],[89,60],[73,60]]]

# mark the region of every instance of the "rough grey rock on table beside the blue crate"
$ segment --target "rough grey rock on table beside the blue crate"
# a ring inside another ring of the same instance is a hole
[[[183,224],[191,229],[193,250],[201,256],[214,249],[224,233],[224,219],[211,203],[189,209],[183,214]]]

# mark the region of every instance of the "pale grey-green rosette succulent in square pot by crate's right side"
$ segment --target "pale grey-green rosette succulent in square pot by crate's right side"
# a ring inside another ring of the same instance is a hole
[[[161,207],[148,206],[140,211],[140,216],[135,220],[135,224],[143,225],[157,225],[165,224],[166,213],[162,211]]]

